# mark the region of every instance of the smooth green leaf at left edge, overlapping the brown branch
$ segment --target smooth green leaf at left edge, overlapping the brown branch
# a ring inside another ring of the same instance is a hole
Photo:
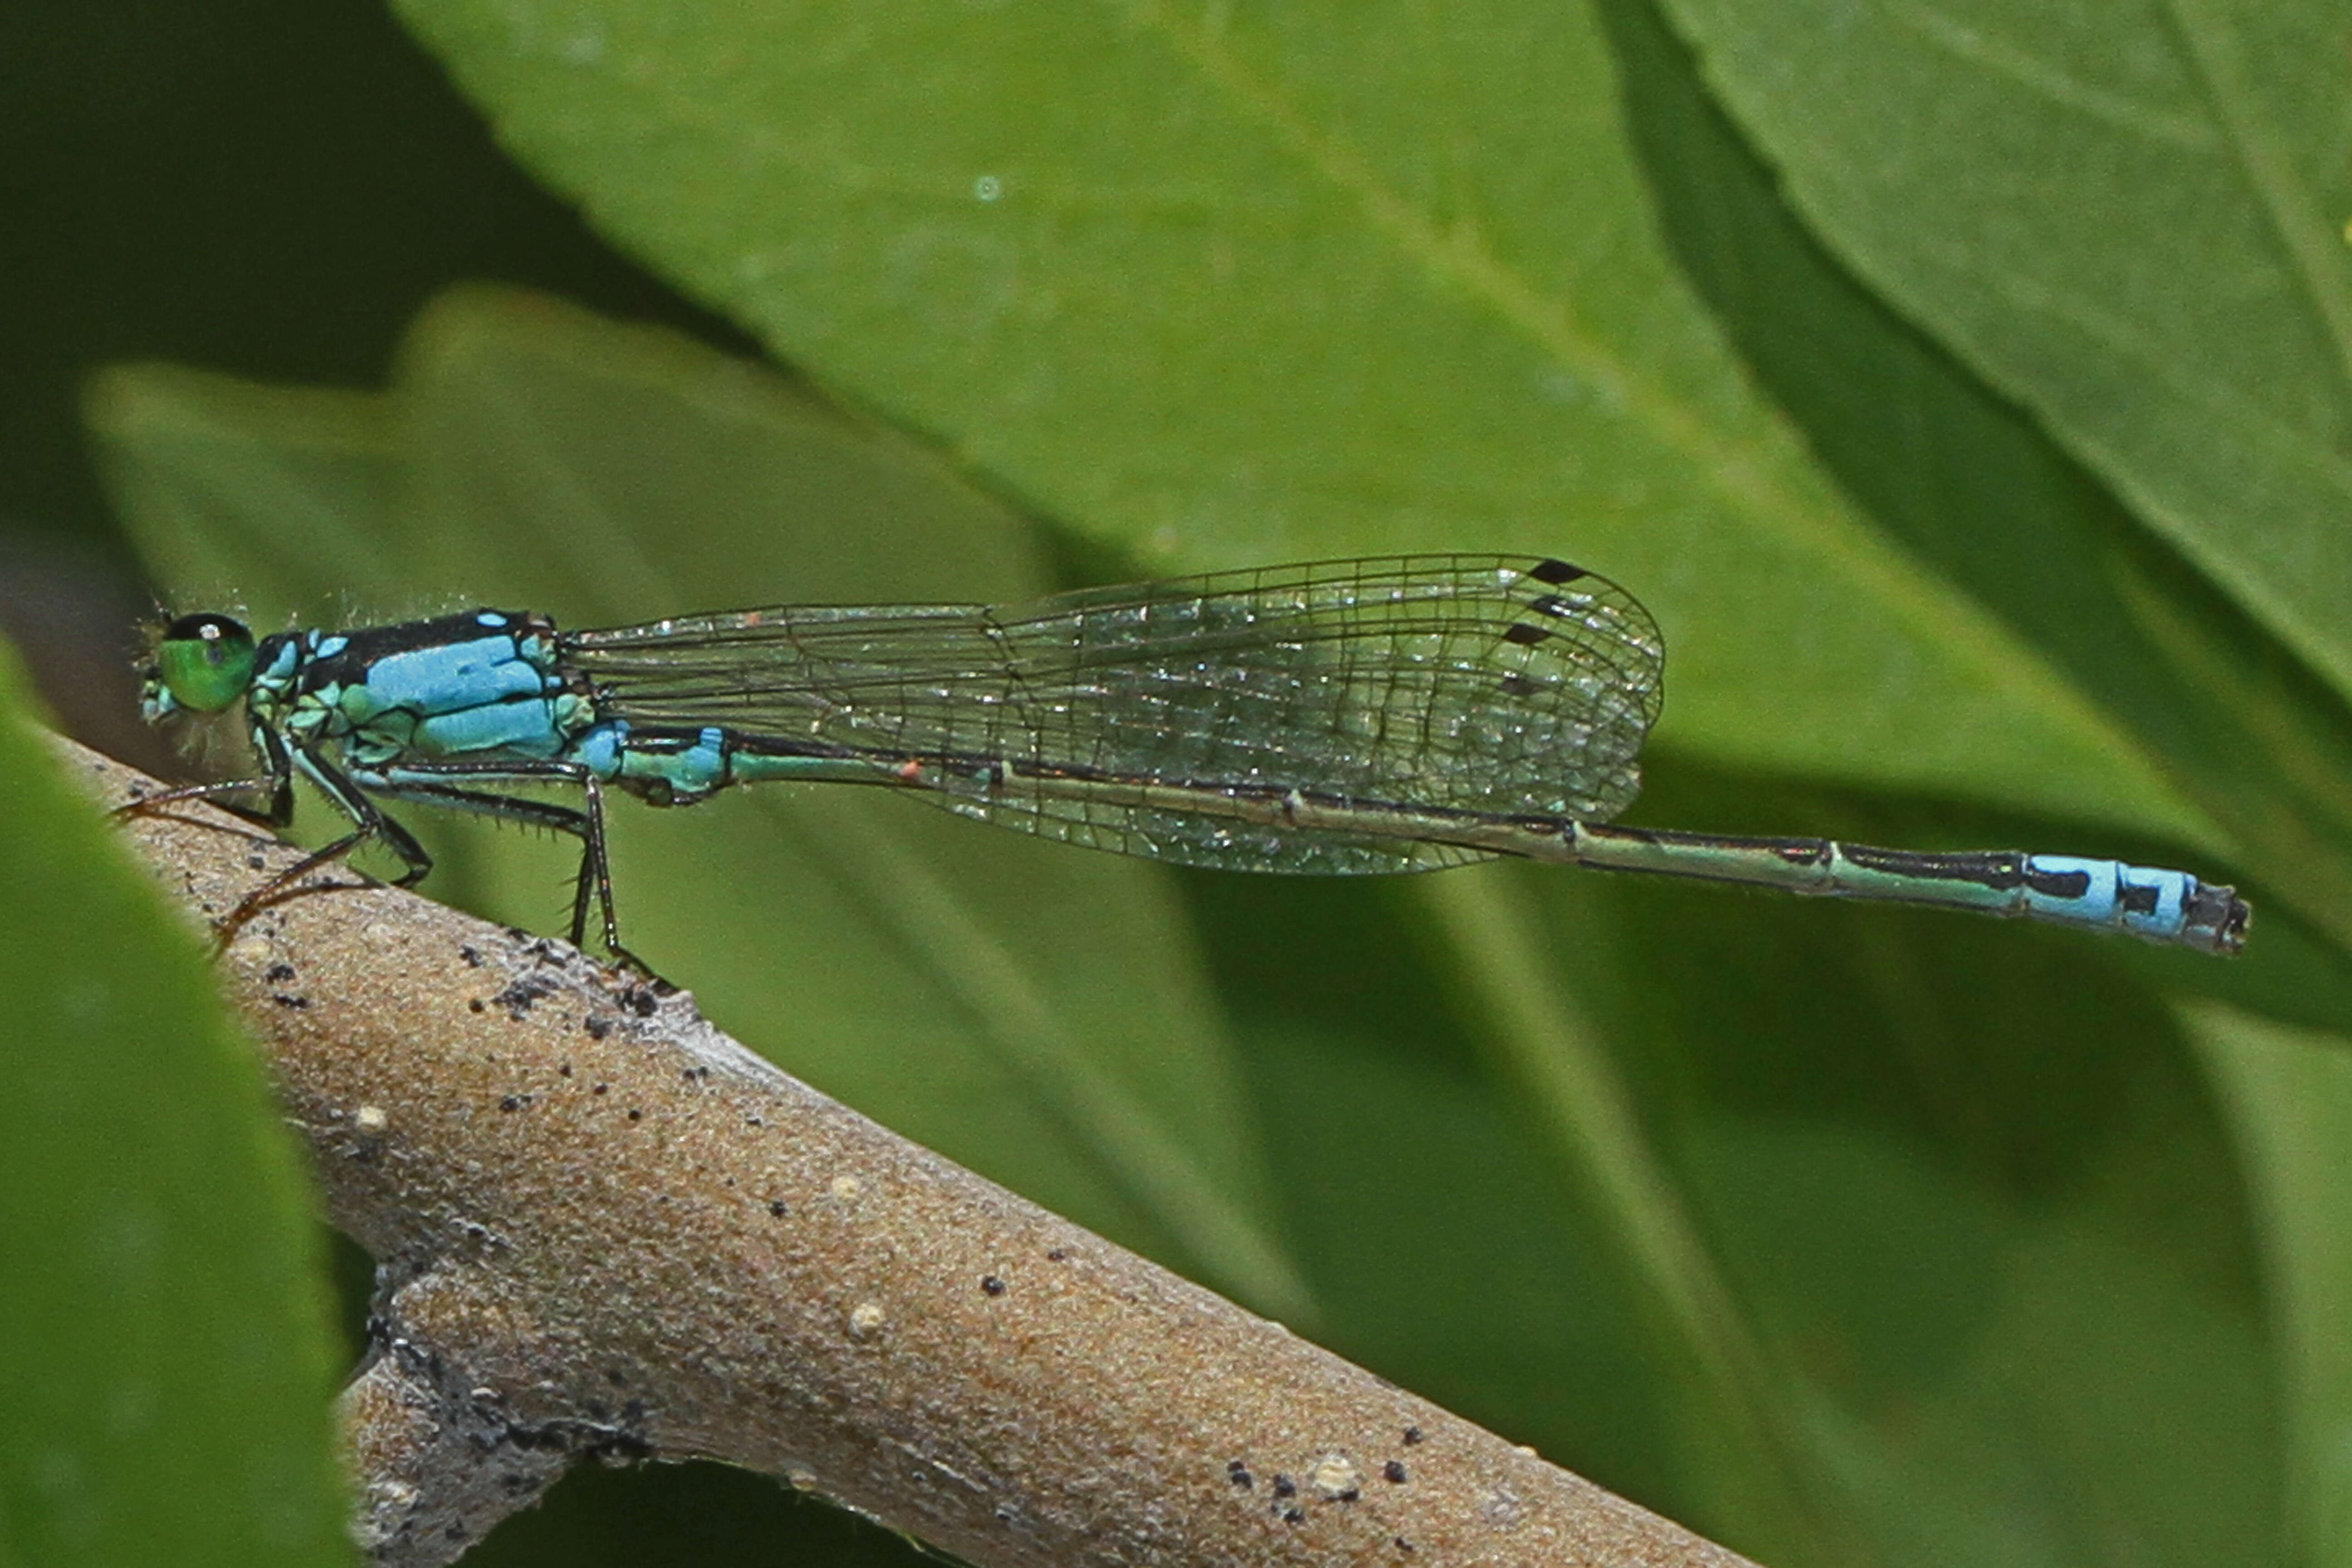
[[[0,646],[0,1561],[350,1561],[318,1225],[198,938]]]

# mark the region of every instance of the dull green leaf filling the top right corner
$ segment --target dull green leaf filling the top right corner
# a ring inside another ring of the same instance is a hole
[[[2343,12],[1670,9],[1839,252],[2352,691]]]

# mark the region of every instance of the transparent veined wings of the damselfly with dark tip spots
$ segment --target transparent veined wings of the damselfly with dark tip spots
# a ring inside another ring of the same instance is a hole
[[[572,632],[564,649],[612,717],[917,762],[906,783],[967,816],[1249,870],[1479,858],[1383,832],[1383,811],[1616,816],[1663,701],[1658,628],[1632,595],[1496,555],[1004,607],[755,609]],[[1367,830],[1237,825],[1136,785],[1298,790],[1359,809]]]

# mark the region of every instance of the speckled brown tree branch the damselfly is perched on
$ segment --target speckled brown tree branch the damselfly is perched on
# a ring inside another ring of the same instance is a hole
[[[160,785],[64,748],[120,804]],[[219,919],[292,860],[129,818]],[[579,1458],[720,1458],[981,1566],[1743,1563],[793,1081],[564,943],[336,870],[240,929],[327,1211],[381,1265],[343,1396],[379,1563]]]

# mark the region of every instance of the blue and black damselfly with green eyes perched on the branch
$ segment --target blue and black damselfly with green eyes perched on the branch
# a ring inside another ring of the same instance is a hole
[[[1665,649],[1642,604],[1557,559],[1399,555],[1091,588],[1007,607],[781,607],[560,630],[475,609],[254,635],[172,621],[143,712],[245,705],[261,773],[169,790],[273,825],[294,778],[381,842],[421,804],[581,842],[572,940],[626,957],[604,792],[684,806],[769,778],[863,783],[1129,856],[1249,872],[1404,872],[1524,856],[1884,898],[2237,952],[2227,886],[2119,860],[1917,853],[1609,825],[1639,788]],[[562,785],[579,804],[513,795]],[[235,922],[247,910],[230,919]]]

